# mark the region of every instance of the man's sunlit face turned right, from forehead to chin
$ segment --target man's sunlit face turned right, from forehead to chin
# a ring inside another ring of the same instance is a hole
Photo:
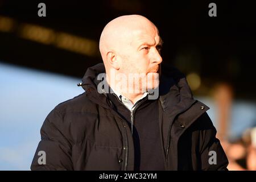
[[[154,25],[140,28],[130,32],[127,42],[120,47],[119,57],[121,68],[119,72],[129,75],[142,74],[146,76],[146,89],[156,88],[159,85],[160,48],[162,40]],[[142,80],[135,85],[142,88]]]

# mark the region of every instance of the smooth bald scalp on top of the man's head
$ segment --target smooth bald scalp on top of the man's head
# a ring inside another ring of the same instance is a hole
[[[109,51],[122,52],[142,31],[158,31],[155,25],[141,15],[119,16],[106,24],[101,33],[100,52],[105,63]]]

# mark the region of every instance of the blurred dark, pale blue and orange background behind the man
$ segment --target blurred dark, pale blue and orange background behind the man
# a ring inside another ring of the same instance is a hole
[[[256,170],[255,12],[253,1],[0,0],[0,170],[30,170],[47,114],[84,92],[77,83],[102,61],[102,29],[127,14],[159,28],[162,69],[185,73],[210,107],[228,168]]]

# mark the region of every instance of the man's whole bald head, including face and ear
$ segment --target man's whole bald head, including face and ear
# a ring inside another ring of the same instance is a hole
[[[121,83],[131,88],[128,85],[134,85],[139,88],[136,97],[142,90],[156,88],[162,62],[161,45],[158,29],[144,16],[119,16],[109,22],[101,34],[100,52],[106,69],[106,80],[110,86],[115,88],[114,83]],[[139,81],[134,81],[131,78],[133,76],[139,76]],[[154,78],[151,79],[150,76]],[[130,77],[128,85],[125,84],[127,77]],[[149,83],[147,87],[142,84],[144,82]]]

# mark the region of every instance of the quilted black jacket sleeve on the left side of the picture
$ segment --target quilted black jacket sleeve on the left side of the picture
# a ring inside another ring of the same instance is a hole
[[[40,133],[31,170],[72,170],[72,145],[63,134],[63,118],[56,109],[48,114]]]

